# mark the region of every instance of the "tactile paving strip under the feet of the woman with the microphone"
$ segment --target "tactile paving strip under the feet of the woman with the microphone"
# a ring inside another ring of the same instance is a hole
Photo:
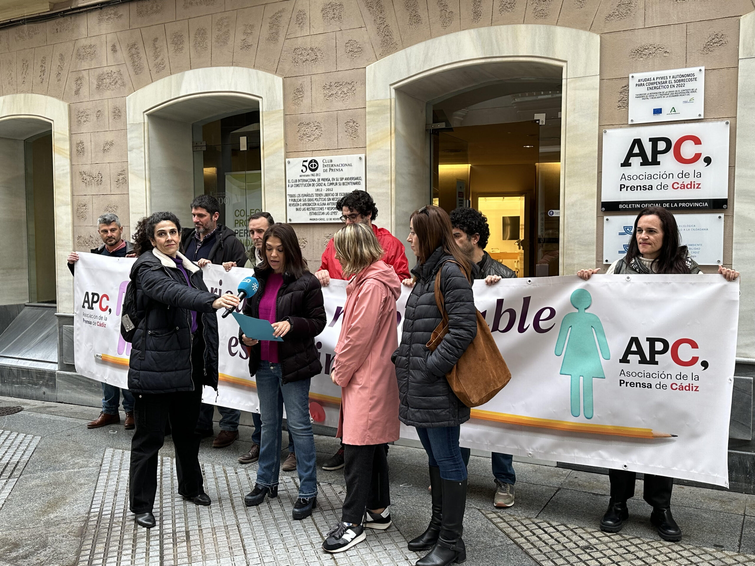
[[[108,448],[85,526],[79,566],[381,566],[414,564],[420,556],[406,549],[395,527],[368,529],[367,540],[347,552],[322,550],[325,534],[341,520],[344,488],[319,484],[317,509],[303,521],[291,518],[298,494],[294,478],[281,477],[278,497],[260,506],[244,505],[254,487],[254,469],[202,464],[209,507],[178,495],[172,458],[160,458],[156,527],[144,529],[128,511],[128,451]]]

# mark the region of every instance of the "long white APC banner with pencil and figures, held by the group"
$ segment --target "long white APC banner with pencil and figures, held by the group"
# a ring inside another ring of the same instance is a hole
[[[128,356],[119,347],[116,309],[110,312],[117,299],[110,297],[118,297],[133,260],[80,255],[76,370],[125,386]],[[232,291],[250,272],[210,266],[205,281],[216,292]],[[503,279],[492,287],[476,281],[474,292],[513,377],[472,410],[462,445],[728,486],[738,283],[720,275],[593,275]],[[328,324],[316,343],[324,368],[312,380],[310,413],[314,422],[335,426],[340,388],[327,371],[345,281],[331,280],[323,295]],[[257,411],[237,335],[236,323],[221,318],[220,386],[217,400],[208,388],[204,399]],[[416,438],[405,426],[402,435]]]

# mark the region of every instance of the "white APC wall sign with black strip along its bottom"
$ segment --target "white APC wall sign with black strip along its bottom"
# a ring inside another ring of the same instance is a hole
[[[603,211],[727,208],[729,122],[603,131]]]

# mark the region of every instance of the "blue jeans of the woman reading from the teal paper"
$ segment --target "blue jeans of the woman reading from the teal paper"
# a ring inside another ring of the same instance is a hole
[[[260,361],[255,379],[262,417],[257,484],[272,488],[279,483],[285,406],[288,434],[296,445],[299,497],[314,497],[317,494],[317,462],[315,437],[310,420],[310,380],[294,381],[284,385],[280,365],[270,361]]]

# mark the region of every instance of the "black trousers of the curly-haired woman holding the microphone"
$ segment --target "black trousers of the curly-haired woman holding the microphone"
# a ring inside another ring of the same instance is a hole
[[[152,512],[157,491],[158,452],[170,419],[176,448],[178,493],[196,497],[204,493],[199,467],[199,435],[194,434],[202,404],[202,388],[194,391],[134,395],[136,429],[131,439],[128,500],[131,512]]]

